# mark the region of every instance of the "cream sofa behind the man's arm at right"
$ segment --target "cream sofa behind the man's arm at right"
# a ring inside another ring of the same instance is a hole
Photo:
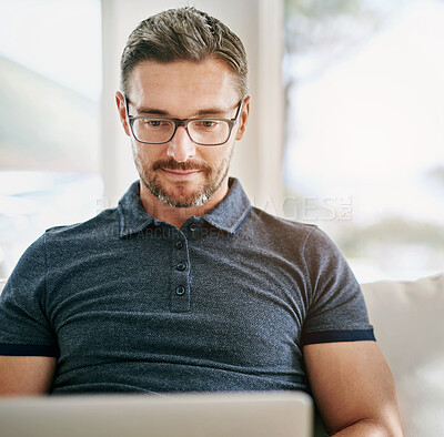
[[[396,382],[405,437],[444,437],[444,273],[362,291]]]

